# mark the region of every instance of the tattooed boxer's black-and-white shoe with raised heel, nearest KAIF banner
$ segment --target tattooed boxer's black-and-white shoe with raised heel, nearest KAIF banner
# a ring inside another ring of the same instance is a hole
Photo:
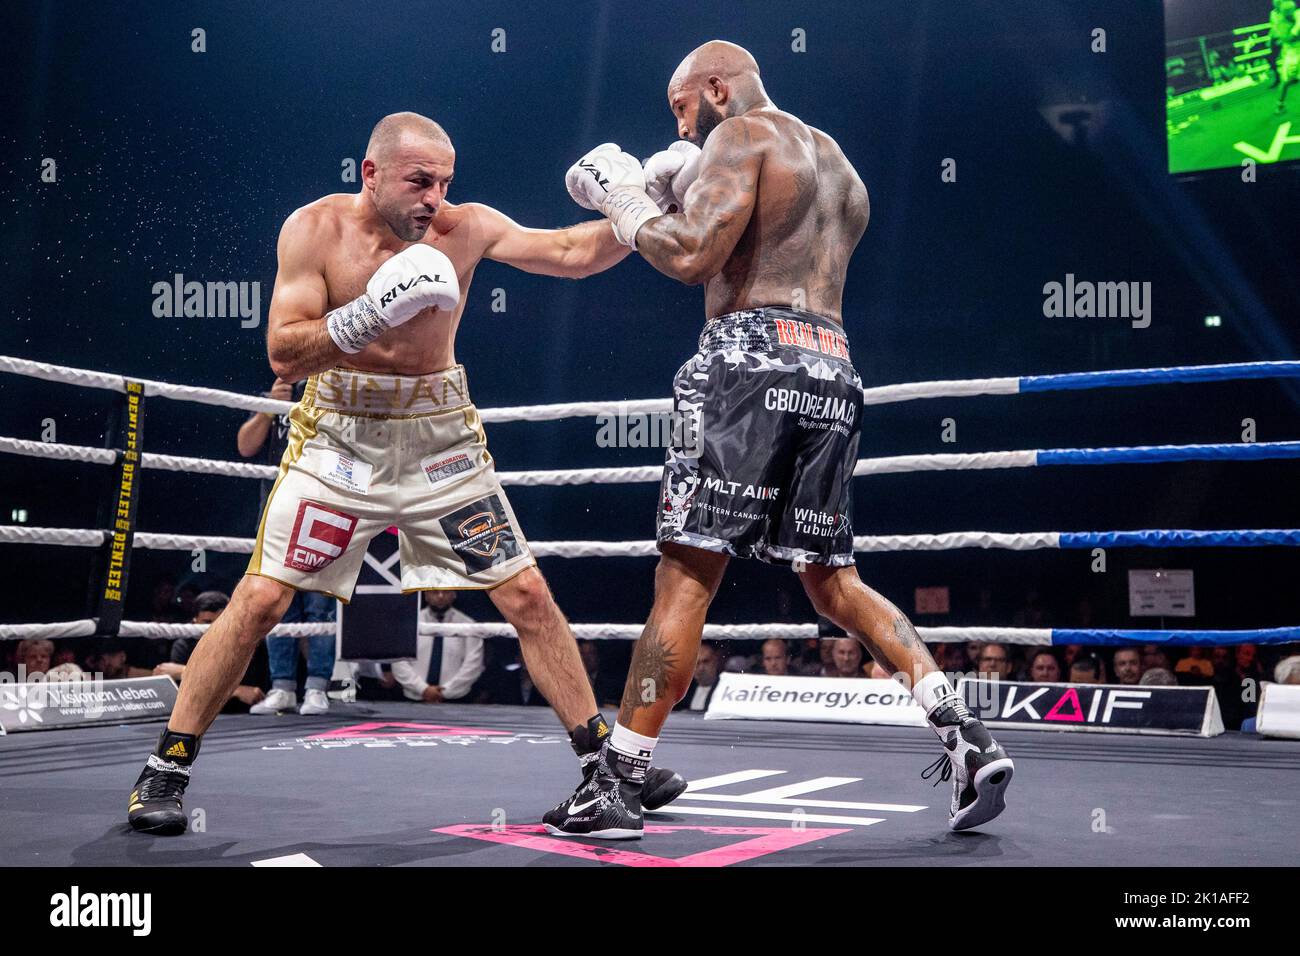
[[[936,787],[945,780],[953,782],[948,829],[970,830],[988,823],[1006,809],[1005,793],[1015,765],[957,695],[939,701],[926,719],[939,734],[946,753],[920,777],[928,780],[937,773]]]

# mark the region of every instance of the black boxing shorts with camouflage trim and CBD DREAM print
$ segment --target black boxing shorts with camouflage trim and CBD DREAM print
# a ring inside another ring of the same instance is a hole
[[[836,323],[774,307],[710,319],[672,392],[660,544],[853,564],[862,381]]]

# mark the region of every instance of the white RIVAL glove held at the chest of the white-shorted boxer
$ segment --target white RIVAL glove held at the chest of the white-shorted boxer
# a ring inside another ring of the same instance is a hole
[[[329,337],[355,355],[389,329],[426,308],[451,310],[460,302],[456,267],[442,252],[417,242],[385,260],[365,291],[325,316]]]

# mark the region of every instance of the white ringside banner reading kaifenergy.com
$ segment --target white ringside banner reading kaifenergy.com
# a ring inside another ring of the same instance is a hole
[[[893,680],[767,674],[720,674],[705,719],[926,724],[911,693]]]

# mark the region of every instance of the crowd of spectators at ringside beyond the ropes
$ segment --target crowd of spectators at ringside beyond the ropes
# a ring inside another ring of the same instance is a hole
[[[468,622],[456,609],[456,592],[424,592],[420,620],[425,624]],[[217,591],[177,588],[170,579],[152,591],[151,619],[208,624],[225,610],[229,597]],[[299,609],[296,619],[329,619],[333,611]],[[1027,605],[1023,620],[1036,619]],[[719,675],[764,674],[770,676],[889,678],[864,654],[862,645],[836,633],[822,622],[819,637],[766,641],[705,641],[694,675],[679,709],[705,710]],[[239,687],[226,702],[228,713],[277,713],[296,704],[296,689],[306,682],[324,700],[324,688],[334,671],[333,637],[276,639],[259,645]],[[168,675],[183,682],[185,669],[202,637],[77,639],[0,643],[0,671],[18,679],[77,679],[100,676],[122,679]],[[268,645],[272,653],[268,654]],[[326,648],[326,645],[329,645]],[[1160,644],[1093,648],[1018,646],[996,643],[927,645],[939,667],[956,682],[963,675],[1001,680],[1070,684],[1134,684],[1213,687],[1225,726],[1238,728],[1254,717],[1258,685],[1265,680],[1300,684],[1300,648],[1265,646],[1169,646]],[[580,640],[578,650],[597,702],[616,708],[630,658],[629,641]],[[406,700],[419,704],[476,702],[546,706],[547,701],[528,672],[517,640],[419,635],[416,656],[406,661],[348,663],[333,676],[351,672],[363,700]],[[292,701],[285,706],[283,697]],[[311,700],[308,697],[308,700]],[[322,713],[328,704],[302,713]]]

